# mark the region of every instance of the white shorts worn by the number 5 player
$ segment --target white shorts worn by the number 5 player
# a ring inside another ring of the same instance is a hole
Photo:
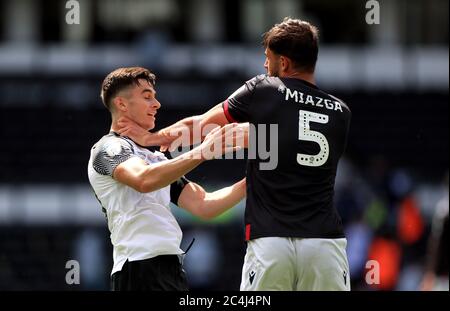
[[[349,291],[347,239],[250,240],[241,290]]]

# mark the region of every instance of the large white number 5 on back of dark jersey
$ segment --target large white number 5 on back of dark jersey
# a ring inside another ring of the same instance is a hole
[[[311,131],[310,122],[328,123],[328,116],[325,114],[300,110],[300,119],[298,121],[298,139],[303,141],[313,141],[320,147],[320,151],[316,155],[297,153],[297,162],[304,166],[322,166],[327,162],[330,155],[328,140],[322,133]]]

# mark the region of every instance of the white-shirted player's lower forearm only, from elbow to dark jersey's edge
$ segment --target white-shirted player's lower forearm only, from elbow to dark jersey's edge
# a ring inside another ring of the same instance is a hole
[[[214,218],[229,210],[245,198],[246,190],[243,179],[230,187],[206,193],[201,211],[203,218]]]

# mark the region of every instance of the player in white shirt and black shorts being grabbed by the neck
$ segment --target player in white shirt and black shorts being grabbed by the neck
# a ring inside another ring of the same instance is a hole
[[[147,130],[155,127],[161,104],[154,74],[141,67],[119,68],[103,81],[101,98],[112,125],[110,133],[92,147],[88,176],[111,232],[112,290],[187,290],[182,232],[169,205],[173,202],[209,219],[245,197],[245,179],[208,193],[183,176],[211,158],[205,155],[213,149],[215,154],[237,150],[223,142],[229,135],[238,140],[239,131],[228,131],[235,125],[216,128],[201,145],[169,160],[118,134],[122,117]]]

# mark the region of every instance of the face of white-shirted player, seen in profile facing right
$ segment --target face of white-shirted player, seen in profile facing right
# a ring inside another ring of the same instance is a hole
[[[139,85],[130,90],[128,116],[142,128],[151,130],[155,127],[155,115],[160,107],[156,91],[148,81],[140,79]]]

